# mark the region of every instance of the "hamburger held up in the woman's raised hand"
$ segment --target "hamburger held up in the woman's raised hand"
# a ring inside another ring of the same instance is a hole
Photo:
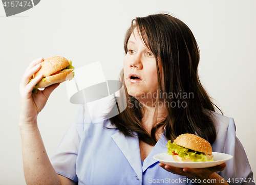
[[[55,83],[71,80],[75,75],[72,62],[64,57],[49,57],[40,62],[40,65],[40,70],[33,75],[33,78],[38,75],[42,75],[43,78],[36,84],[33,92],[37,92],[37,88],[45,88]]]

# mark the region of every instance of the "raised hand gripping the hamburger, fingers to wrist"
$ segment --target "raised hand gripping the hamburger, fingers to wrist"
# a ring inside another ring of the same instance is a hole
[[[59,85],[59,83],[54,84],[44,90],[37,90],[36,94],[32,93],[33,87],[42,79],[42,75],[32,79],[33,74],[40,70],[39,63],[42,61],[43,58],[38,58],[29,64],[19,85],[20,124],[34,123],[38,113],[45,107],[51,92]]]

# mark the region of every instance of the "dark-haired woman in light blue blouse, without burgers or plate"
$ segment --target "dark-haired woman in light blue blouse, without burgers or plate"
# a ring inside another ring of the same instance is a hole
[[[42,77],[29,80],[42,59],[29,65],[20,83],[19,121],[27,183],[228,184],[228,178],[252,178],[233,120],[215,112],[199,81],[199,50],[189,28],[167,14],[137,17],[126,32],[124,50],[124,96],[121,93],[117,105],[127,108],[102,124],[87,124],[87,106],[79,106],[51,161],[36,118],[58,85],[31,95]],[[213,151],[234,157],[204,169],[175,168],[153,158],[182,133],[198,134]]]

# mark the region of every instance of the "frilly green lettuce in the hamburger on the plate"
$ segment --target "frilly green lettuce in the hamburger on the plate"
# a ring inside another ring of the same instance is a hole
[[[202,152],[196,152],[194,150],[190,150],[188,148],[184,148],[182,146],[177,145],[176,143],[172,143],[172,141],[168,141],[166,144],[168,149],[167,153],[169,155],[173,155],[173,152],[177,153],[182,159],[190,158],[193,162],[202,162],[202,161],[213,161],[212,158],[209,160]]]

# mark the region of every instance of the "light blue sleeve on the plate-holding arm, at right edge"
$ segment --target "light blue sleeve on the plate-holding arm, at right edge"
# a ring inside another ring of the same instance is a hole
[[[223,132],[212,147],[216,152],[233,156],[226,161],[225,170],[219,173],[229,184],[255,184],[245,150],[236,136],[236,126],[232,118],[229,119],[226,132]]]

